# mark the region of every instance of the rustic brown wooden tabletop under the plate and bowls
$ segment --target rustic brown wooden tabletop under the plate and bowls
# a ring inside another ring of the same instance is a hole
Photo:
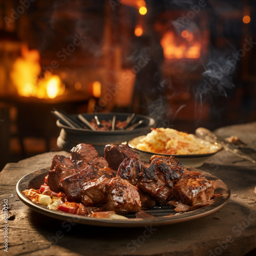
[[[255,131],[256,122],[216,132],[225,137],[237,135],[256,150]],[[16,195],[17,181],[33,170],[50,166],[54,155],[50,152],[8,163],[1,172],[1,255],[7,247],[6,255],[35,256],[245,255],[256,248],[256,166],[231,153],[222,151],[200,167],[229,186],[231,199],[223,209],[197,220],[143,228],[71,225],[24,205]],[[7,204],[8,226],[4,221]]]

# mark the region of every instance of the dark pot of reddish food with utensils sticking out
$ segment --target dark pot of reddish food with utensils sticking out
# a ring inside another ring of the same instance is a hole
[[[151,117],[134,113],[74,114],[55,113],[61,128],[57,146],[70,151],[79,143],[92,144],[104,156],[106,144],[120,144],[150,132],[155,126]]]

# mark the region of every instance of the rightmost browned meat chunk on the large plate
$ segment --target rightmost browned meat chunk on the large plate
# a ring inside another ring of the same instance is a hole
[[[189,205],[205,203],[214,195],[214,186],[210,181],[198,175],[180,179],[174,186],[177,200]]]

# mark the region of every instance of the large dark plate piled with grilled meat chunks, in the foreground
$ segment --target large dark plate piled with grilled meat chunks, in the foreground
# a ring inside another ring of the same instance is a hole
[[[70,157],[55,155],[51,166],[19,180],[17,195],[46,216],[112,227],[190,221],[220,210],[230,198],[223,181],[174,156],[142,162],[125,144],[106,145],[104,153],[99,157],[81,143]]]

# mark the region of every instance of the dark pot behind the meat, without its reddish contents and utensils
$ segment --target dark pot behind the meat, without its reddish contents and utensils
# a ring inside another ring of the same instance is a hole
[[[81,114],[88,121],[94,119],[95,114]],[[131,113],[104,113],[97,114],[99,120],[112,120],[113,116],[116,116],[116,120],[125,121]],[[71,115],[77,122],[80,122],[78,115]],[[57,126],[61,128],[59,137],[57,139],[57,146],[60,150],[70,152],[72,147],[79,143],[92,144],[100,156],[104,156],[105,145],[108,144],[121,144],[122,142],[128,142],[131,139],[145,135],[151,132],[151,127],[155,127],[156,122],[153,118],[143,115],[135,116],[135,123],[143,120],[143,123],[135,128],[133,131],[117,130],[117,131],[92,131],[78,128],[71,128],[65,125],[59,119],[57,120]]]

